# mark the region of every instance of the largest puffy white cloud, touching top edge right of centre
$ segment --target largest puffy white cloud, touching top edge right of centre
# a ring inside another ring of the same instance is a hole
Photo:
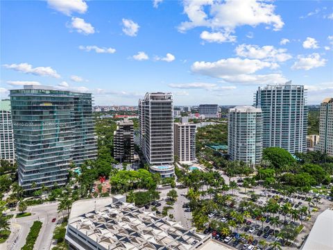
[[[189,21],[182,22],[178,31],[186,32],[191,28],[207,27],[212,28],[214,33],[230,34],[237,26],[254,27],[259,24],[273,26],[273,29],[278,31],[284,26],[284,22],[274,10],[273,4],[256,0],[185,0],[184,12]],[[221,42],[221,39],[216,41]]]

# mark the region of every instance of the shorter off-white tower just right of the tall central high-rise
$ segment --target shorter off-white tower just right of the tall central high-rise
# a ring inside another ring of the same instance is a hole
[[[174,124],[174,150],[180,162],[196,160],[196,124],[189,123],[188,117]]]

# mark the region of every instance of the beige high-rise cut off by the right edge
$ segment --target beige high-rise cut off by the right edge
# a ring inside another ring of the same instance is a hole
[[[321,103],[319,136],[316,150],[333,156],[333,97],[326,98]]]

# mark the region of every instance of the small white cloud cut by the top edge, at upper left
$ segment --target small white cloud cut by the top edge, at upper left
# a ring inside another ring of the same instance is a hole
[[[47,0],[50,8],[58,10],[65,15],[71,15],[72,12],[84,14],[87,12],[87,3],[83,0]]]

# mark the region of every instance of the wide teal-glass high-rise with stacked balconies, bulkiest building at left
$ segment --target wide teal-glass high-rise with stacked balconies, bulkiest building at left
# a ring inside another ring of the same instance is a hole
[[[19,185],[67,182],[71,162],[96,158],[92,94],[28,85],[10,90]]]

